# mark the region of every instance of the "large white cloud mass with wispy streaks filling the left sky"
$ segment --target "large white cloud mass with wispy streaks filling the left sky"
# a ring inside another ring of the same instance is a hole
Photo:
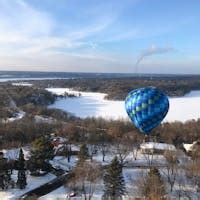
[[[95,53],[98,44],[91,39],[107,29],[115,17],[94,13],[92,22],[83,27],[55,34],[55,29],[63,28],[63,24],[51,13],[36,10],[25,0],[0,0],[0,65],[13,69],[29,66],[35,70],[45,70],[48,66],[52,71],[56,71],[54,66],[60,66],[64,71],[65,67],[67,70],[68,66],[80,65],[79,62],[84,67],[96,62],[103,65],[116,62],[112,56]],[[79,52],[79,49],[85,50]]]

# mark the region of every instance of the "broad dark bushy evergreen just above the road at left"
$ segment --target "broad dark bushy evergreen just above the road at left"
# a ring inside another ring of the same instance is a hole
[[[29,169],[32,174],[37,170],[49,170],[48,160],[54,155],[53,145],[49,136],[42,136],[33,142],[33,150],[29,160]]]

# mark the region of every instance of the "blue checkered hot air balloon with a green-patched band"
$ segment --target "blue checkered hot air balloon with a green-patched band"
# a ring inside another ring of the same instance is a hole
[[[169,110],[168,97],[155,87],[131,91],[125,100],[125,108],[133,124],[149,135],[165,118]]]

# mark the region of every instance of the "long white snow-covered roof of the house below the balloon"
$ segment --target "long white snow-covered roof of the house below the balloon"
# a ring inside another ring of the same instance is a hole
[[[157,150],[171,150],[175,151],[176,147],[172,144],[166,143],[156,143],[156,142],[146,142],[140,145],[141,149],[157,149]]]

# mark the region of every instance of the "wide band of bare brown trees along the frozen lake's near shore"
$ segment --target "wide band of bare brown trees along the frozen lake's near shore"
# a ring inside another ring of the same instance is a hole
[[[72,143],[115,143],[123,139],[125,142],[137,144],[145,137],[130,121],[106,120],[103,118],[80,119],[58,109],[26,104],[21,107],[26,117],[12,123],[0,123],[0,145],[7,147],[31,143],[35,138],[48,133],[56,133],[71,139]],[[54,123],[37,123],[35,116],[55,119]],[[199,140],[200,119],[186,123],[163,123],[155,128],[150,139],[157,142],[171,143],[181,146]],[[124,142],[123,141],[123,142]]]

